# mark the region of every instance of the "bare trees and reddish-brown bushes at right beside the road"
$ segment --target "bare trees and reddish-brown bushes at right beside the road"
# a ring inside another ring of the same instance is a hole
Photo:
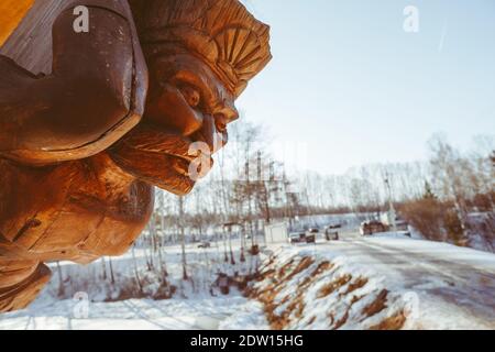
[[[421,197],[404,202],[408,220],[427,238],[495,250],[494,140],[480,136],[462,154],[444,138],[430,143],[429,180]],[[474,242],[481,243],[474,243]]]

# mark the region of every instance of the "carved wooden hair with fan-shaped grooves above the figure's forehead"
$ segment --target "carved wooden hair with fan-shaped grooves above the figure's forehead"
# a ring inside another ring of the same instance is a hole
[[[238,0],[131,0],[146,55],[199,56],[239,96],[271,61],[270,26]]]

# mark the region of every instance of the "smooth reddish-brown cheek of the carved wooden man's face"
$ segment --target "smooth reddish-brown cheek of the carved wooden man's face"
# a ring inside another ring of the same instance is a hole
[[[182,135],[190,135],[201,128],[204,117],[193,109],[180,91],[164,85],[160,95],[148,102],[145,121],[173,129]]]

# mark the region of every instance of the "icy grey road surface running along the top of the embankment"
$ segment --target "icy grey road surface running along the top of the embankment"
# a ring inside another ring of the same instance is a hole
[[[337,250],[361,265],[394,276],[400,287],[428,296],[428,304],[444,314],[454,309],[473,323],[495,329],[492,253],[400,237],[364,238],[355,232],[340,241],[318,242],[316,248]]]

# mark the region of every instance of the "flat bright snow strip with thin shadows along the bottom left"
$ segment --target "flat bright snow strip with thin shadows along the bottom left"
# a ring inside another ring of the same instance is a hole
[[[260,304],[249,301],[239,294],[216,298],[190,299],[128,299],[113,302],[84,302],[72,299],[35,302],[25,310],[2,315],[0,329],[4,330],[179,330],[219,329],[233,312],[244,329],[267,328]],[[260,311],[258,315],[253,312]]]

